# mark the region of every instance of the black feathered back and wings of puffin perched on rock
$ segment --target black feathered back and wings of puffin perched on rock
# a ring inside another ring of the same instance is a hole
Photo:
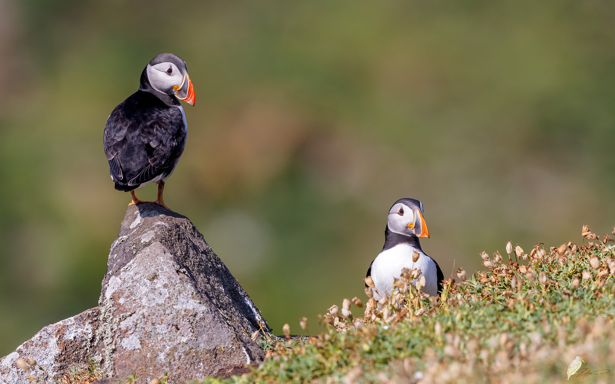
[[[177,106],[139,91],[111,112],[103,141],[116,189],[132,190],[175,168],[186,143],[185,120]]]

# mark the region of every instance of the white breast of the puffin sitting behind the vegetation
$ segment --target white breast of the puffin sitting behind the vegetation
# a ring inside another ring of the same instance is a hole
[[[437,283],[437,268],[434,260],[418,251],[421,256],[416,262],[412,261],[412,256],[415,253],[415,248],[408,244],[396,245],[393,248],[382,251],[371,264],[371,280],[374,281],[374,299],[379,300],[384,294],[391,294],[393,281],[399,278],[402,273],[402,268],[421,270],[425,276],[425,286],[421,291],[436,296],[438,294]],[[419,275],[419,278],[421,276]],[[413,284],[416,280],[412,281]],[[378,289],[378,292],[376,292]]]

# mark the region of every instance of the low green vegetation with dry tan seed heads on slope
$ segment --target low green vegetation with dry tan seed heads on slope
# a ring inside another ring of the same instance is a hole
[[[328,332],[266,335],[260,367],[199,383],[560,383],[576,355],[587,364],[570,380],[615,382],[615,246],[589,227],[582,235],[581,245],[482,253],[487,270],[466,280],[459,268],[441,297],[419,293],[405,270],[379,302],[331,307]]]

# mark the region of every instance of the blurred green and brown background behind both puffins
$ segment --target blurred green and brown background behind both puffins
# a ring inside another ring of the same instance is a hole
[[[365,300],[398,198],[424,203],[445,276],[613,230],[614,19],[597,0],[0,0],[0,356],[97,305],[130,202],[103,128],[157,54],[196,89],[165,202],[274,331],[315,333]]]

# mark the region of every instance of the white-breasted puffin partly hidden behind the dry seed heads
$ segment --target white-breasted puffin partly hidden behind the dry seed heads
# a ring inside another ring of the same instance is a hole
[[[376,300],[391,294],[393,282],[402,274],[403,268],[421,270],[421,275],[425,276],[425,286],[421,291],[429,296],[437,296],[442,291],[442,270],[434,259],[423,252],[419,237],[429,238],[423,218],[423,203],[413,198],[400,198],[389,210],[383,250],[367,270],[367,276],[371,276],[374,282]],[[412,283],[415,284],[416,280]]]

